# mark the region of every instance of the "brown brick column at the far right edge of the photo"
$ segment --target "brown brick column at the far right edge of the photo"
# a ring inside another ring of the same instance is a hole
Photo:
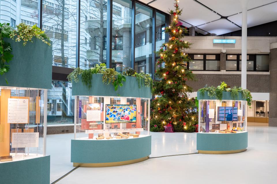
[[[277,127],[277,43],[270,44],[269,54],[269,127]]]

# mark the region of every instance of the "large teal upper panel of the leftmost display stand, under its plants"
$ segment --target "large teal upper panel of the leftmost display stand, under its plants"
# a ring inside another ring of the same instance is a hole
[[[7,38],[4,41],[11,44],[14,57],[8,64],[10,71],[0,75],[0,86],[51,89],[52,47],[37,38],[25,46],[23,41]]]

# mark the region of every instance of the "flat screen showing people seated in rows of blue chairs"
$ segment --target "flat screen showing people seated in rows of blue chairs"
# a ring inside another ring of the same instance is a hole
[[[136,105],[106,104],[106,123],[135,123]]]

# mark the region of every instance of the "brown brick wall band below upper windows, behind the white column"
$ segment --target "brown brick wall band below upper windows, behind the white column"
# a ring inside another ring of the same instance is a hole
[[[193,88],[193,91],[198,91],[198,89],[203,88],[206,84],[216,87],[222,81],[225,81],[230,87],[241,86],[240,74],[196,74],[196,78],[196,82],[188,81],[186,83]],[[248,74],[247,89],[253,93],[269,93],[269,75]]]

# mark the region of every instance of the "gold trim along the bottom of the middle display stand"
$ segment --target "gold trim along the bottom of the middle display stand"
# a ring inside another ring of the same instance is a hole
[[[138,162],[142,162],[144,160],[147,160],[149,156],[134,159],[134,160],[127,160],[127,161],[122,161],[122,162],[108,162],[108,163],[76,163],[73,162],[74,167],[113,167],[113,166],[123,166],[123,165],[128,165],[128,164],[134,164]]]

